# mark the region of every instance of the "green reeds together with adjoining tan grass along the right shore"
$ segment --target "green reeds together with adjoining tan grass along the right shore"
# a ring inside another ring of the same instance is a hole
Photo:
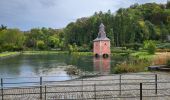
[[[151,55],[146,51],[138,51],[131,53],[131,61],[125,61],[118,64],[114,69],[114,73],[129,73],[147,71],[150,65],[168,65],[170,64],[170,52],[162,52]],[[135,58],[135,59],[134,59]]]

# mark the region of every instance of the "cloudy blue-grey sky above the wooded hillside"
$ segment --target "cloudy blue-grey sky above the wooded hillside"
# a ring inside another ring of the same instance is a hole
[[[0,0],[0,24],[22,31],[31,28],[64,28],[94,12],[112,13],[134,3],[166,3],[167,0]]]

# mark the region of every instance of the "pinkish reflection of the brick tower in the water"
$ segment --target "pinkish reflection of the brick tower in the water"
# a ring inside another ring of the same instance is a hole
[[[94,57],[93,64],[94,71],[99,72],[100,74],[110,73],[110,57]]]

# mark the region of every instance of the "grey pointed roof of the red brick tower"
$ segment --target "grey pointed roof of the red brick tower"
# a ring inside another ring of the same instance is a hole
[[[110,40],[109,38],[106,37],[105,26],[103,25],[103,23],[100,24],[98,36],[94,41],[99,40]]]

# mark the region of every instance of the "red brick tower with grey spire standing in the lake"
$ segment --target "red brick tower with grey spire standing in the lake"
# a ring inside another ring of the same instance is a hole
[[[96,57],[110,55],[110,39],[106,37],[103,23],[100,24],[97,38],[93,40],[93,53]]]

